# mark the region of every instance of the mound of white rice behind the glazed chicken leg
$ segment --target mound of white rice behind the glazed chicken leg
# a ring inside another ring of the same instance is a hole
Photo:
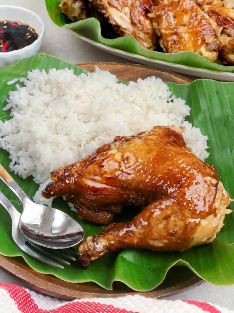
[[[15,80],[14,80],[15,81]],[[78,161],[116,135],[156,125],[182,125],[185,141],[200,159],[208,157],[207,136],[184,122],[190,114],[159,78],[118,84],[115,75],[96,69],[76,76],[72,70],[38,69],[9,92],[11,119],[0,124],[0,146],[10,153],[10,169],[38,184],[58,167]],[[37,197],[37,201],[40,197]]]

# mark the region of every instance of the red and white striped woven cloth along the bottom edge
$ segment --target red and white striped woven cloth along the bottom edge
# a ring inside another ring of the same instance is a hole
[[[168,301],[142,296],[64,301],[0,283],[0,313],[231,313],[198,301]],[[234,312],[232,312],[234,313]]]

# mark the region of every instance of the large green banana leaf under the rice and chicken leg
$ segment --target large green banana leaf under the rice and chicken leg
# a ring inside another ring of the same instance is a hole
[[[7,82],[16,77],[26,77],[27,71],[32,69],[50,68],[63,69],[68,67],[79,75],[85,73],[75,65],[46,54],[37,54],[22,59],[0,69],[0,119],[10,118],[10,112],[2,111],[6,105],[7,94],[16,90],[15,84]],[[196,80],[189,85],[168,83],[170,90],[176,97],[185,99],[192,108],[188,121],[200,127],[202,134],[209,137],[208,145],[210,157],[206,160],[215,165],[221,181],[226,189],[234,196],[234,83],[220,83],[213,80]],[[0,150],[0,163],[9,171],[8,152]],[[32,177],[22,179],[12,173],[12,177],[22,189],[32,197],[38,185]],[[19,211],[21,203],[14,194],[3,184],[0,190],[12,201]],[[61,198],[55,199],[53,206],[67,212],[75,218],[85,229],[86,236],[99,234],[103,227],[80,220]],[[231,205],[234,208],[233,204]],[[151,290],[159,285],[168,270],[173,265],[185,265],[196,275],[216,285],[234,284],[234,228],[233,214],[225,218],[225,225],[218,233],[217,239],[211,244],[195,247],[186,252],[152,252],[143,249],[124,249],[116,254],[106,254],[103,258],[91,262],[86,270],[79,264],[71,264],[65,269],[56,269],[40,261],[32,259],[23,253],[13,242],[11,237],[11,219],[1,206],[0,218],[0,254],[6,256],[22,256],[29,266],[38,272],[52,274],[69,282],[93,281],[100,286],[111,289],[113,281],[121,281],[134,290]],[[125,210],[118,216],[118,221],[129,220],[132,213]],[[178,268],[179,269],[179,268]],[[144,280],[142,279],[144,277]]]

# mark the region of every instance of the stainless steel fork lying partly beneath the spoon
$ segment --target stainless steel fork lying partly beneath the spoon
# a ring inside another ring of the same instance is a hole
[[[60,250],[59,252],[54,249],[46,249],[42,248],[41,246],[38,246],[37,244],[34,244],[32,242],[27,241],[25,239],[19,229],[19,220],[21,214],[17,211],[17,209],[13,206],[13,204],[7,199],[7,197],[0,191],[0,203],[2,206],[7,210],[7,212],[10,214],[12,219],[12,237],[14,242],[17,244],[17,246],[23,250],[28,255],[32,256],[35,259],[40,260],[43,263],[55,266],[60,269],[64,269],[64,266],[57,263],[60,262],[62,264],[70,265],[71,261],[75,261],[76,258],[73,255],[80,255],[78,252],[76,252],[73,249],[66,249],[66,252],[62,252]],[[60,255],[60,256],[58,256]],[[56,261],[54,261],[54,260]],[[67,260],[68,259],[68,260]]]

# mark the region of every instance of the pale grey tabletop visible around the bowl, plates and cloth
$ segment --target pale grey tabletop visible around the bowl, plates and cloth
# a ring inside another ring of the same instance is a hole
[[[45,23],[46,34],[40,52],[54,55],[71,63],[122,62],[127,60],[108,54],[75,38],[68,30],[57,27],[50,20],[44,0],[0,0],[0,4],[18,5],[35,11]],[[234,275],[234,274],[233,274]],[[0,282],[25,286],[21,281],[0,270]],[[234,286],[219,287],[206,282],[197,287],[167,296],[170,300],[197,300],[234,309]]]

